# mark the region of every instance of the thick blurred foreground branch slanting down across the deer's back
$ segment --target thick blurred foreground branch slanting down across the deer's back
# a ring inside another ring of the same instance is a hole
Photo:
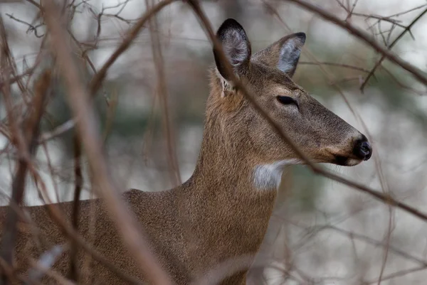
[[[107,212],[117,225],[117,230],[122,235],[127,249],[129,249],[130,254],[134,255],[147,279],[153,284],[171,284],[169,276],[159,267],[157,258],[154,257],[147,246],[147,242],[142,237],[141,229],[135,217],[129,213],[129,210],[122,202],[120,191],[117,190],[115,183],[110,179],[110,171],[102,154],[102,142],[97,131],[98,122],[91,108],[92,104],[90,104],[91,92],[88,92],[84,87],[78,74],[78,68],[71,58],[72,50],[67,45],[64,36],[66,33],[64,33],[64,29],[60,25],[58,9],[56,9],[53,1],[45,1],[44,7],[46,11],[43,16],[46,19],[48,30],[52,37],[52,52],[58,57],[58,66],[68,87],[68,103],[75,117],[78,118],[78,132],[85,146],[97,189],[102,189],[99,191],[99,195],[104,198]],[[127,46],[129,45],[130,42]],[[97,75],[102,74],[102,77],[98,77],[100,80],[102,80],[106,70],[97,73]],[[92,86],[97,87],[99,85]],[[92,88],[95,89],[95,87]]]

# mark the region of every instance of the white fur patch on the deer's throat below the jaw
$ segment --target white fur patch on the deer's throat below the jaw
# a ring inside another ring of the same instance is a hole
[[[286,159],[284,161],[255,166],[253,171],[253,185],[259,190],[277,189],[285,167],[302,163],[303,161],[300,159]]]

